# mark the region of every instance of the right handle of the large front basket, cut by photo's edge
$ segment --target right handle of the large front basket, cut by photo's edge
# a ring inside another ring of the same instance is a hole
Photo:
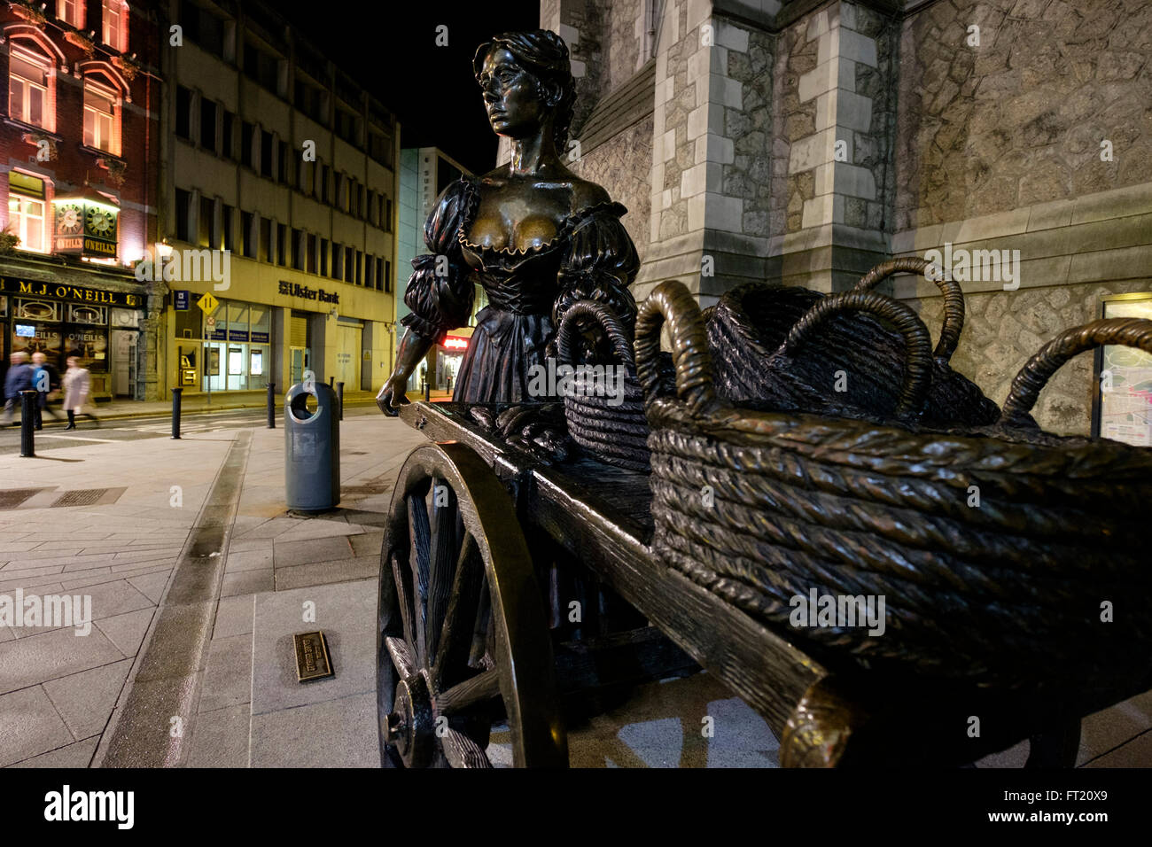
[[[1152,353],[1152,320],[1101,318],[1056,335],[1028,360],[1011,380],[1000,425],[1026,426],[1028,415],[1052,375],[1073,356],[1104,345],[1123,345]]]

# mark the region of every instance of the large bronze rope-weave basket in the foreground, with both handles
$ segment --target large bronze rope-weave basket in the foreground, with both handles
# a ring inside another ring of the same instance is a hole
[[[665,322],[674,394],[653,370]],[[1102,343],[1152,350],[1152,322],[1096,322],[1046,346],[995,429],[752,410],[717,398],[699,310],[662,283],[636,336],[653,551],[842,661],[1032,690],[1152,685],[1152,449],[1016,426],[1063,361]],[[923,378],[910,369],[905,394]],[[884,597],[885,633],[793,626],[812,591]]]

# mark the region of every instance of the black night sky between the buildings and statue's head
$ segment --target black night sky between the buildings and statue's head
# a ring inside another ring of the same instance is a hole
[[[325,7],[347,12],[317,15]],[[313,0],[275,8],[289,21],[300,21],[305,38],[396,114],[402,146],[438,146],[473,172],[495,165],[497,137],[472,77],[472,55],[498,32],[537,29],[538,1]],[[365,16],[369,9],[380,9],[379,18]],[[435,46],[439,24],[448,28],[447,47]]]

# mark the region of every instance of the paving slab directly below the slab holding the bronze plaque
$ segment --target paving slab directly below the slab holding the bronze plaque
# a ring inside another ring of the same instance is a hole
[[[376,719],[374,693],[253,714],[251,766],[379,767]]]

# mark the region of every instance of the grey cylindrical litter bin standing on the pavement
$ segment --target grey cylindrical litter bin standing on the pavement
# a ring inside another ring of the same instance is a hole
[[[316,398],[309,415],[308,398]],[[285,394],[285,494],[288,508],[321,512],[340,502],[340,414],[336,393],[324,383]]]

